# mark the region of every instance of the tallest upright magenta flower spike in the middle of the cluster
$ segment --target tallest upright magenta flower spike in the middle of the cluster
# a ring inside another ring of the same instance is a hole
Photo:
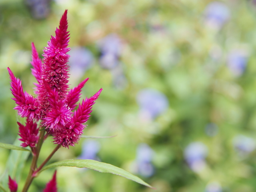
[[[56,90],[60,98],[65,98],[68,90],[68,69],[67,64],[69,55],[66,54],[70,48],[68,46],[69,34],[67,31],[67,10],[64,12],[59,28],[56,29],[55,37],[51,37],[48,46],[44,49],[44,63],[42,64],[41,78],[50,86],[52,90]],[[39,100],[46,102],[44,83],[40,84]]]

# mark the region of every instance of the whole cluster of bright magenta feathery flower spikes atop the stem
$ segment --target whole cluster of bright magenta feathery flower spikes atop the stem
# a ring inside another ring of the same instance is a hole
[[[92,105],[99,97],[100,89],[94,96],[86,98],[75,110],[76,102],[81,96],[81,89],[88,80],[69,90],[67,52],[68,34],[67,10],[60,19],[59,28],[55,36],[51,36],[48,46],[44,48],[44,58],[41,60],[32,43],[32,74],[38,81],[35,83],[36,97],[23,91],[21,81],[8,68],[11,79],[11,91],[16,102],[14,109],[21,117],[26,117],[26,126],[18,123],[21,145],[34,148],[38,142],[37,122],[45,128],[48,135],[52,135],[54,143],[68,148],[74,146],[83,134],[84,123],[90,117]],[[40,127],[39,126],[39,127]]]

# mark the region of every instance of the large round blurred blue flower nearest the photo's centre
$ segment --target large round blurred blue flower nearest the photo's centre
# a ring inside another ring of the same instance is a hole
[[[154,119],[168,108],[168,99],[160,91],[145,88],[137,94],[137,103],[140,113],[146,118]]]

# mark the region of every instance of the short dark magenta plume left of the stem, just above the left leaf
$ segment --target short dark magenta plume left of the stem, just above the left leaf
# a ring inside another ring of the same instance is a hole
[[[17,122],[19,125],[19,136],[21,137],[19,140],[23,143],[20,144],[22,147],[30,146],[31,148],[35,147],[38,142],[38,133],[39,128],[37,124],[33,121],[27,119],[26,125],[22,125],[21,123]]]

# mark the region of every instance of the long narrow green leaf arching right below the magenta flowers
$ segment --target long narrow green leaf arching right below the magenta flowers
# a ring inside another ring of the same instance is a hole
[[[133,174],[131,174],[121,168],[118,168],[111,164],[102,163],[102,162],[98,162],[98,161],[90,160],[90,159],[85,159],[85,160],[84,159],[69,159],[69,160],[55,162],[55,163],[49,164],[49,165],[45,166],[44,168],[42,168],[42,170],[40,170],[40,172],[42,172],[43,170],[49,169],[49,168],[57,167],[57,166],[88,168],[88,169],[93,169],[93,170],[96,170],[96,171],[99,171],[102,173],[112,173],[112,174],[120,175],[120,176],[125,177],[130,180],[133,180],[137,183],[148,186],[150,188],[153,188],[152,186],[150,186],[149,184],[144,182],[142,179],[138,178],[137,176],[134,176]]]

